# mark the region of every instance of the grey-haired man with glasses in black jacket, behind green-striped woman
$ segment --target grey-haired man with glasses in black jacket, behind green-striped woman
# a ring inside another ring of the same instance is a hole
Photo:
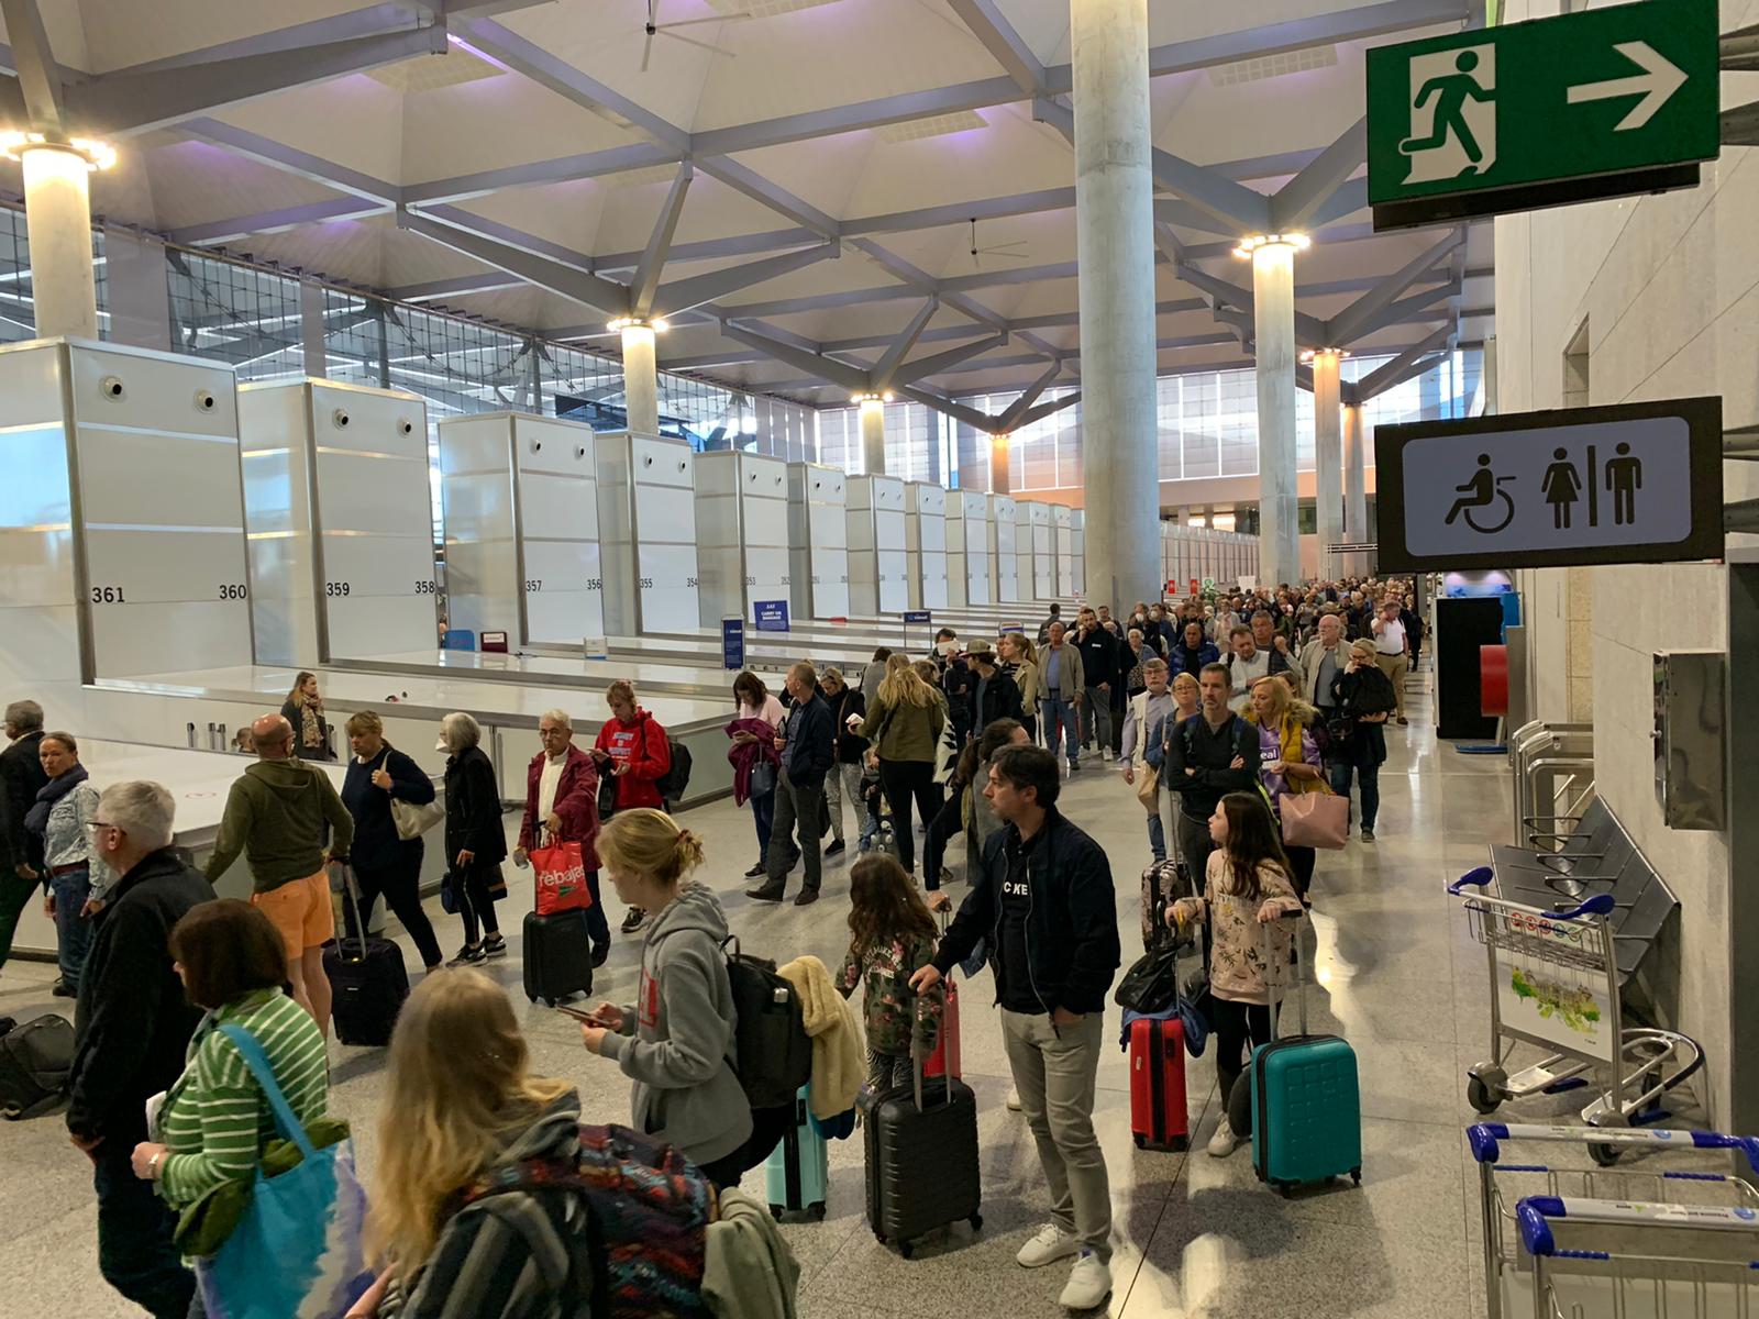
[[[148,1138],[146,1101],[183,1073],[201,1020],[174,969],[171,927],[215,897],[171,846],[174,813],[157,783],[118,783],[99,800],[97,856],[121,878],[79,978],[67,1097],[67,1133],[93,1164],[99,1270],[155,1319],[188,1314],[195,1275],[171,1242],[176,1215],[130,1159]]]

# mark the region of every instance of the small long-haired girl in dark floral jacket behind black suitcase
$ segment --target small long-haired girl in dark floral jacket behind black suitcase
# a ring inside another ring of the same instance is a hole
[[[850,997],[867,988],[867,1083],[878,1090],[909,1085],[915,1031],[918,1057],[934,1050],[945,992],[922,995],[909,978],[934,957],[934,916],[911,883],[909,872],[888,853],[862,856],[850,869],[850,955],[843,958],[837,988]]]

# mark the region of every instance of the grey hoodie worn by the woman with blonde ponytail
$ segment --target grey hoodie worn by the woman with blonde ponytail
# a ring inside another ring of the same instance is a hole
[[[734,1068],[734,988],[726,915],[705,885],[684,885],[647,929],[637,1002],[603,1057],[635,1082],[631,1122],[695,1164],[725,1159],[751,1138],[751,1106]]]

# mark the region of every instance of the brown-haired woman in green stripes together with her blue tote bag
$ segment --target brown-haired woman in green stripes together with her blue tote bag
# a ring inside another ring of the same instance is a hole
[[[179,1213],[199,1280],[190,1314],[339,1319],[371,1282],[366,1196],[347,1124],[325,1115],[324,1036],[281,990],[281,937],[248,902],[220,899],[178,922],[171,955],[208,1015],[134,1171]]]

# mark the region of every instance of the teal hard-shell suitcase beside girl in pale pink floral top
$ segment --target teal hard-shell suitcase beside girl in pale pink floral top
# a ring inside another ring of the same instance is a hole
[[[1265,927],[1266,966],[1274,960],[1270,929]],[[1339,1036],[1307,1034],[1305,983],[1296,999],[1300,1034],[1275,1039],[1274,1017],[1272,1043],[1252,1050],[1252,1170],[1284,1196],[1333,1177],[1351,1177],[1361,1185],[1356,1050]]]

